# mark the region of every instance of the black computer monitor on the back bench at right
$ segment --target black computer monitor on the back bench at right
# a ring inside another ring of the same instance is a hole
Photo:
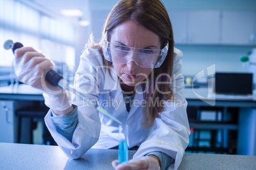
[[[253,74],[224,73],[215,74],[215,93],[226,95],[252,95]]]

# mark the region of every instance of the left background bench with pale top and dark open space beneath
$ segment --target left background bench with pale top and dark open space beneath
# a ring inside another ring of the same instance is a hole
[[[40,121],[43,141],[54,143],[43,122],[47,111],[39,89],[25,84],[0,87],[0,142],[32,143],[32,130]]]

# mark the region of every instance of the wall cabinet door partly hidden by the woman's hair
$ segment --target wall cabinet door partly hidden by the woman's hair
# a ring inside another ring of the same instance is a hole
[[[187,23],[188,17],[186,11],[169,11],[169,18],[173,25],[173,37],[175,44],[187,43]]]

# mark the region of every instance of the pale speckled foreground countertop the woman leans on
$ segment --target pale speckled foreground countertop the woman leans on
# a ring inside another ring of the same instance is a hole
[[[129,151],[129,160],[136,151]],[[57,146],[0,143],[0,169],[113,169],[118,150],[91,148],[70,159]],[[256,156],[185,153],[178,169],[255,169]]]

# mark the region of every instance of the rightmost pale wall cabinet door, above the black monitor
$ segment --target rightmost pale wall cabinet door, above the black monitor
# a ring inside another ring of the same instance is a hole
[[[252,44],[253,11],[223,11],[222,44]]]

